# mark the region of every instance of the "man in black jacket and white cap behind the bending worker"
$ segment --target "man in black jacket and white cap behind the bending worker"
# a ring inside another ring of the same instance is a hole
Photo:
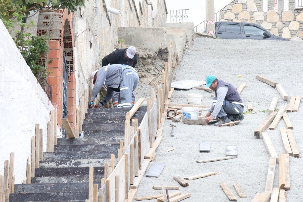
[[[116,49],[114,52],[108,54],[102,59],[102,66],[108,64],[120,64],[135,67],[138,61],[137,50],[134,46],[129,46],[127,49]],[[119,93],[115,92],[112,98],[113,107],[118,106]],[[135,104],[135,96],[132,94],[132,105]]]

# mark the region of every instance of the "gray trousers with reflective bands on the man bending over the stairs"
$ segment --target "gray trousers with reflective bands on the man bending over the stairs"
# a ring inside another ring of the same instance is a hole
[[[117,107],[132,107],[132,93],[138,86],[138,73],[132,69],[124,69],[121,73],[120,93]]]

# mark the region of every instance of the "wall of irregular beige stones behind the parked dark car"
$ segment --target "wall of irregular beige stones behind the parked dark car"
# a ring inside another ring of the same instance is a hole
[[[278,11],[273,11],[273,0],[268,0],[268,12],[263,12],[263,0],[235,0],[220,11],[220,21],[250,22],[261,25],[276,36],[291,40],[303,39],[303,9],[294,9],[289,1],[289,11],[283,11],[279,0]]]

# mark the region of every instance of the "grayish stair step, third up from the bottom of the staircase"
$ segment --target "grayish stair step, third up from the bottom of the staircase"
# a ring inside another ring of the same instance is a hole
[[[103,175],[94,175],[94,182],[101,182]],[[32,183],[82,183],[88,182],[89,175],[33,177]]]

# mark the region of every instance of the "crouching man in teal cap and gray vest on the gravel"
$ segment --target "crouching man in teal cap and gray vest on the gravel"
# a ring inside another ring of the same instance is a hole
[[[215,126],[219,126],[220,124],[244,119],[244,115],[242,115],[243,101],[233,85],[209,75],[206,78],[206,87],[215,91],[212,105],[206,114],[207,123],[219,118],[219,121],[215,123]]]

